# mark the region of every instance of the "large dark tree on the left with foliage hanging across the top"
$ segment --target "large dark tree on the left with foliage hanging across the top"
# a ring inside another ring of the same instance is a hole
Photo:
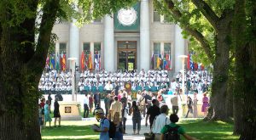
[[[38,127],[38,82],[44,70],[55,20],[72,20],[72,17],[76,17],[79,23],[84,23],[97,16],[111,14],[133,2],[0,1],[0,139],[41,139]],[[76,6],[88,12],[79,14],[75,10]],[[37,16],[41,22],[36,21]],[[35,42],[37,33],[38,40]]]

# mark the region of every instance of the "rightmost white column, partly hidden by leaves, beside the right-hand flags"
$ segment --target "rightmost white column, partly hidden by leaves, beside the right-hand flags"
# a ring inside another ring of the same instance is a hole
[[[185,40],[183,39],[182,29],[175,25],[175,73],[183,69],[182,59],[178,56],[185,55]]]

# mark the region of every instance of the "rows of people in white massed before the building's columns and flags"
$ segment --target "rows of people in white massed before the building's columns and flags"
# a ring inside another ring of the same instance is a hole
[[[188,70],[184,76],[186,90],[184,93],[207,92],[212,83],[212,76],[207,70]],[[181,91],[183,76],[178,72],[176,78],[168,76],[167,70],[141,70],[141,71],[117,71],[106,70],[90,71],[84,70],[79,73],[78,92],[110,92],[124,90],[125,83],[131,84],[131,91],[157,92],[165,89],[166,93],[183,93]],[[172,79],[172,81],[170,81]],[[71,93],[72,76],[71,72],[57,72],[56,70],[44,71],[38,85],[39,91],[45,93],[61,92]]]

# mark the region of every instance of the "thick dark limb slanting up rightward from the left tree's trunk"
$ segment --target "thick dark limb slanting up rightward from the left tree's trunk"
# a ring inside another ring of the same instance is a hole
[[[43,17],[39,28],[38,45],[32,59],[26,64],[32,68],[36,75],[41,76],[47,57],[50,35],[55,24],[57,12],[59,11],[60,0],[49,0],[44,4]]]

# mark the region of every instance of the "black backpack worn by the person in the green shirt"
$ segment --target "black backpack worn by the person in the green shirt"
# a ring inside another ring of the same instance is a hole
[[[179,126],[171,127],[166,125],[166,127],[168,131],[165,133],[165,140],[180,140],[180,135],[177,132]]]

